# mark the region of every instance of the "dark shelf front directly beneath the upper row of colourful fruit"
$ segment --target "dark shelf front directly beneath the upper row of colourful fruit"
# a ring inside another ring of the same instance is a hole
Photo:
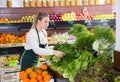
[[[79,20],[79,21],[52,21],[49,24],[48,28],[70,28],[75,23],[80,23],[87,25],[89,27],[93,27],[96,25],[101,26],[113,26],[115,27],[115,19],[102,19],[102,20]],[[0,30],[25,30],[30,29],[32,23],[5,23],[0,24]]]

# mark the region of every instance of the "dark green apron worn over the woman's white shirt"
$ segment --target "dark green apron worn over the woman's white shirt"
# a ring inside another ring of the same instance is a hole
[[[36,28],[36,32],[37,32],[37,36],[38,36],[38,40],[39,40],[39,47],[45,48],[47,44],[40,44],[40,37],[39,37],[37,28]],[[43,34],[44,34],[44,32],[43,32]],[[21,57],[21,71],[26,70],[29,67],[36,66],[38,63],[38,60],[39,60],[39,55],[35,54],[32,49],[25,50]]]

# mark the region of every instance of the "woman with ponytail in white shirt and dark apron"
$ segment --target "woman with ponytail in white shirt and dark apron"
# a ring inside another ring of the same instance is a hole
[[[49,15],[46,12],[40,12],[36,15],[33,25],[26,37],[25,51],[21,57],[21,71],[29,67],[36,66],[41,54],[55,55],[59,58],[63,52],[48,48],[47,29],[49,25]]]

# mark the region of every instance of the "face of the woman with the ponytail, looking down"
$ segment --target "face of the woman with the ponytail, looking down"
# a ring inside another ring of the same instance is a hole
[[[42,29],[47,29],[47,27],[49,26],[49,21],[49,17],[43,17],[42,20],[38,20],[38,25]]]

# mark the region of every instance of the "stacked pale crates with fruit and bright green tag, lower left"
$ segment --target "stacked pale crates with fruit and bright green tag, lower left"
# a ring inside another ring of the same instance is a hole
[[[0,57],[0,82],[19,82],[19,60],[19,54]]]

